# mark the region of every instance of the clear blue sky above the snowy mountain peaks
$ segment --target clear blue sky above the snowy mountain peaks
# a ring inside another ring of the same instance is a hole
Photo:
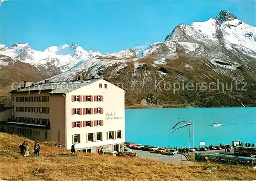
[[[206,21],[227,9],[256,26],[256,1],[7,0],[0,6],[0,44],[35,50],[75,42],[112,53],[164,41],[180,23]]]

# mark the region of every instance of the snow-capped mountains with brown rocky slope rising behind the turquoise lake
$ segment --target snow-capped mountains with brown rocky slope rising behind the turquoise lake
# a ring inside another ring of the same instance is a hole
[[[256,28],[227,10],[205,22],[177,25],[163,42],[153,43],[144,50],[100,54],[72,43],[40,52],[28,44],[14,44],[11,48],[0,46],[0,59],[3,66],[20,60],[40,69],[51,67],[62,72],[49,78],[50,81],[71,80],[77,75],[106,77],[124,86],[127,104],[256,105]],[[172,82],[216,80],[246,83],[247,91],[231,90],[229,84],[229,89],[217,92],[185,89],[174,94],[172,91],[175,89]],[[168,90],[164,83],[171,85]]]

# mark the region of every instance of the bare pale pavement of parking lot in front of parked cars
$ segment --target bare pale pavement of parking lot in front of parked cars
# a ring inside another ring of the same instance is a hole
[[[164,163],[167,163],[167,162],[181,163],[181,159],[182,159],[182,163],[190,162],[182,154],[168,156],[168,155],[162,155],[160,153],[151,153],[150,151],[142,151],[142,150],[133,150],[133,151],[136,152],[140,158],[159,160]]]

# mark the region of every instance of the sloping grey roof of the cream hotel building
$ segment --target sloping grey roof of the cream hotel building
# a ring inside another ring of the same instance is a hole
[[[87,80],[75,80],[75,81],[63,81],[63,82],[48,82],[48,83],[38,83],[25,88],[18,88],[12,90],[10,93],[20,93],[20,92],[40,92],[47,91],[47,94],[65,94],[72,92],[75,89],[81,88],[83,86],[92,84],[101,80],[102,78],[87,79]]]

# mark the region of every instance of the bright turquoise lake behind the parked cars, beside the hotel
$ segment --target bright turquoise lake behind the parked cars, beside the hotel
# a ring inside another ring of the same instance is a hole
[[[125,141],[188,147],[189,126],[171,132],[177,122],[190,120],[194,121],[195,147],[199,147],[199,142],[205,142],[206,146],[231,145],[233,140],[256,143],[256,107],[126,109]],[[222,126],[211,126],[213,123]],[[192,135],[191,127],[191,147]]]

